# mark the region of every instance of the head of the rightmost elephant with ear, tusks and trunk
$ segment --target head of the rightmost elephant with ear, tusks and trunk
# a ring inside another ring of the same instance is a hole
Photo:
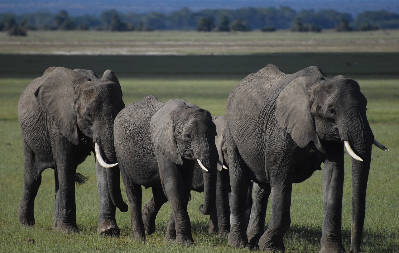
[[[357,252],[365,217],[371,146],[374,142],[388,150],[374,139],[366,117],[367,100],[359,84],[343,76],[326,78],[317,67],[309,69],[318,72],[317,77],[300,76],[290,81],[277,98],[275,115],[300,148],[314,144],[326,153],[330,142],[345,144],[352,156],[351,250]]]

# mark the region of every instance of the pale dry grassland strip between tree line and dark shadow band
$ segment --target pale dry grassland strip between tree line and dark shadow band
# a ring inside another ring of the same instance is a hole
[[[399,30],[369,32],[109,32],[29,31],[26,37],[0,32],[0,53],[55,54],[229,54],[275,52],[392,52]]]

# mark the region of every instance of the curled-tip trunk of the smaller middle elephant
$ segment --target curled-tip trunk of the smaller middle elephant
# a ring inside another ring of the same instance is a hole
[[[194,156],[200,160],[207,171],[203,170],[204,203],[199,206],[199,211],[203,215],[209,215],[216,202],[216,171],[218,154],[215,141],[211,138],[201,138],[206,140],[194,150]],[[198,152],[196,152],[198,150]]]

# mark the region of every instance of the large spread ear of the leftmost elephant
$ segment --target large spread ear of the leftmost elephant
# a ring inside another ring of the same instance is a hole
[[[77,145],[75,85],[89,81],[90,78],[71,69],[57,67],[34,92],[38,103],[50,117],[55,126],[70,142]]]

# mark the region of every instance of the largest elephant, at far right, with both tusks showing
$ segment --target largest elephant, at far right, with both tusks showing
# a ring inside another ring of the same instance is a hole
[[[352,156],[350,250],[360,251],[371,146],[374,143],[388,151],[374,138],[366,105],[356,81],[342,75],[328,78],[316,66],[286,74],[270,64],[245,77],[231,91],[226,105],[231,184],[229,245],[246,247],[249,240],[250,246],[257,243],[260,249],[284,251],[283,237],[291,222],[292,184],[303,182],[324,163],[320,253],[345,252],[341,231],[345,146]],[[244,189],[251,180],[256,184],[256,212],[251,213],[246,229],[242,203]],[[263,233],[270,194],[271,221]]]

